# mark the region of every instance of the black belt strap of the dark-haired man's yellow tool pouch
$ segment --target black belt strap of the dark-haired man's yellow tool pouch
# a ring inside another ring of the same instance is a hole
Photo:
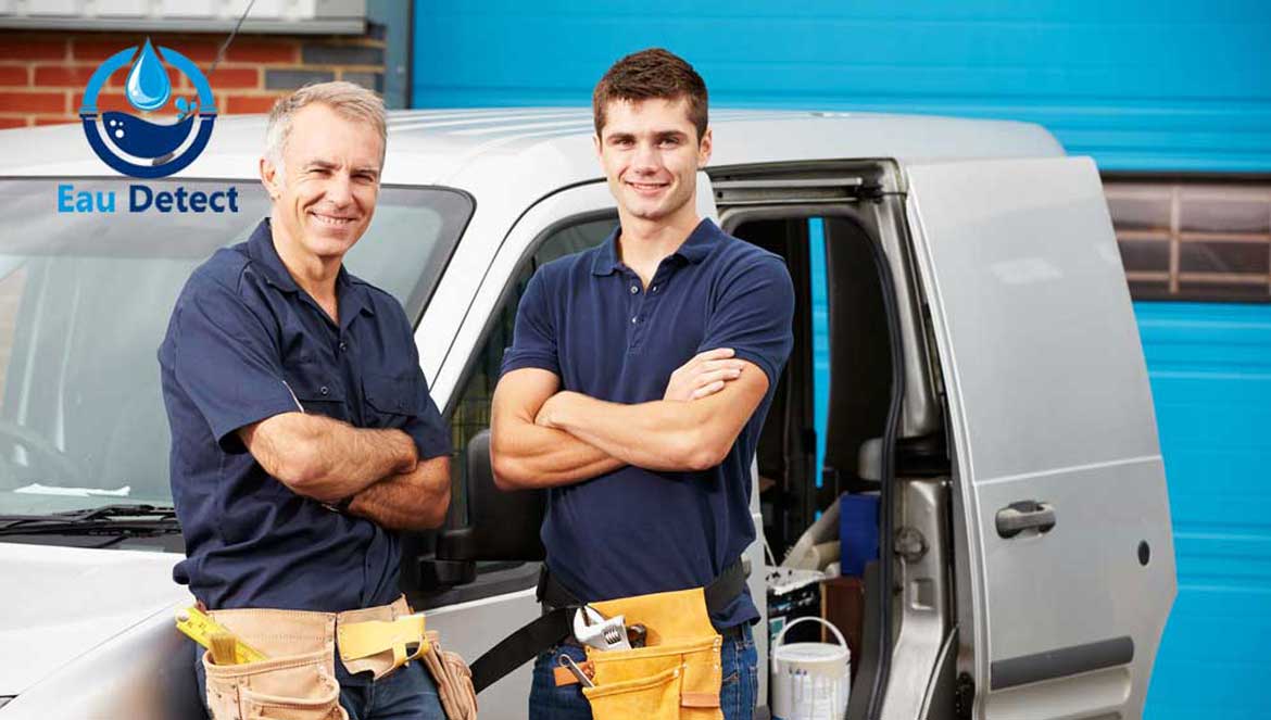
[[[723,573],[705,587],[707,612],[716,615],[727,610],[732,601],[737,599],[737,596],[745,590],[747,574],[741,559],[724,568]],[[543,615],[500,640],[498,645],[487,650],[472,664],[473,687],[477,692],[494,684],[516,668],[533,660],[539,653],[573,635],[571,625],[573,613],[571,611],[585,603],[548,573],[547,563],[539,571],[539,587],[535,596],[543,604]]]

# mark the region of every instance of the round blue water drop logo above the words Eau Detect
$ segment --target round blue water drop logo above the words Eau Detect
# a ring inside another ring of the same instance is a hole
[[[128,79],[125,97],[133,108],[154,113],[163,110],[172,100],[175,121],[151,122],[130,113],[97,112],[97,98],[105,81],[122,67]],[[193,98],[173,99],[168,67],[172,66],[189,79]],[[150,39],[141,47],[130,47],[107,58],[84,90],[80,122],[84,136],[103,163],[133,178],[167,178],[186,168],[207,147],[216,121],[216,103],[212,88],[198,67],[184,55],[170,47],[155,48]]]

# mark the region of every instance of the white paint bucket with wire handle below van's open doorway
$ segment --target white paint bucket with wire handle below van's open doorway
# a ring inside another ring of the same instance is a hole
[[[803,621],[830,629],[839,644],[791,643],[785,634]],[[839,629],[820,617],[801,617],[782,629],[773,643],[773,720],[841,720],[852,688],[852,651]]]

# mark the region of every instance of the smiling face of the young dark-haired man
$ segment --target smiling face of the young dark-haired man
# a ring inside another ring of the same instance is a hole
[[[688,108],[685,98],[605,107],[596,152],[620,215],[672,223],[697,217],[697,171],[710,159],[710,130],[699,141]]]

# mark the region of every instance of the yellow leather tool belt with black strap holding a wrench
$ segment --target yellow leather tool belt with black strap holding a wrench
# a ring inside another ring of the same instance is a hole
[[[582,672],[595,683],[583,688],[596,720],[619,717],[719,719],[723,639],[710,623],[742,593],[746,569],[732,563],[704,588],[588,603],[602,615],[623,615],[647,629],[646,646],[632,650],[586,648]],[[543,616],[505,637],[472,665],[477,692],[539,653],[572,636],[571,617],[583,603],[555,582],[544,564],[538,598]],[[578,682],[555,669],[557,684]]]

